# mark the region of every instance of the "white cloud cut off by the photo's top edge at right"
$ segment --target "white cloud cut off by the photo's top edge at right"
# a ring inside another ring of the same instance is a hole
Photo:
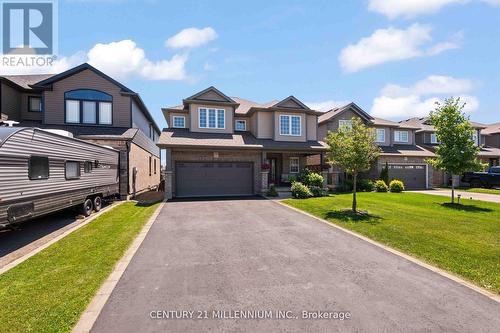
[[[370,0],[368,9],[381,13],[390,19],[412,18],[421,14],[433,14],[451,4],[464,4],[469,0]],[[489,2],[499,2],[489,0]]]

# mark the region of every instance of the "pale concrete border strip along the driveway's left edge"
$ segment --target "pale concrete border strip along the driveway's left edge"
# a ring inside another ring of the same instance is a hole
[[[94,326],[94,323],[97,320],[97,317],[99,317],[99,314],[104,308],[104,305],[108,301],[109,296],[111,296],[111,293],[113,292],[121,276],[127,269],[127,266],[129,265],[130,261],[132,260],[135,253],[137,252],[142,242],[146,238],[149,229],[151,229],[151,226],[156,221],[156,218],[160,214],[160,211],[165,205],[165,202],[166,201],[163,201],[158,206],[158,208],[156,208],[153,215],[151,215],[148,222],[146,222],[146,224],[142,227],[141,231],[134,239],[130,247],[127,249],[123,257],[116,263],[111,274],[108,276],[106,281],[104,281],[104,283],[101,285],[94,298],[92,298],[92,301],[89,303],[85,311],[80,316],[78,323],[76,323],[75,327],[73,327],[72,330],[73,333],[90,332],[90,330]]]

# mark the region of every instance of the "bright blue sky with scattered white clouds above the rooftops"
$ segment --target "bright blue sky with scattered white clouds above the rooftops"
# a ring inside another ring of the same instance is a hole
[[[211,85],[257,102],[354,101],[396,120],[463,96],[492,123],[499,19],[497,0],[61,0],[58,68],[90,60],[139,92],[160,127],[161,107]]]

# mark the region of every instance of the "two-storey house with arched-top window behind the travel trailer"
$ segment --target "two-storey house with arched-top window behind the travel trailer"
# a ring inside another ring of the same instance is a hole
[[[89,64],[59,74],[0,76],[2,121],[59,129],[120,150],[120,194],[160,183],[160,129],[139,94]]]

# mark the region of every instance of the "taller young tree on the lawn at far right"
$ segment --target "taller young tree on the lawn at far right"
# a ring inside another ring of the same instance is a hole
[[[481,148],[474,142],[474,129],[462,111],[465,103],[461,103],[460,98],[452,97],[436,105],[436,109],[431,112],[431,124],[436,129],[439,145],[436,148],[436,158],[428,159],[427,162],[452,177],[466,171],[483,169],[484,165],[477,159]],[[453,180],[451,203],[455,203]]]

